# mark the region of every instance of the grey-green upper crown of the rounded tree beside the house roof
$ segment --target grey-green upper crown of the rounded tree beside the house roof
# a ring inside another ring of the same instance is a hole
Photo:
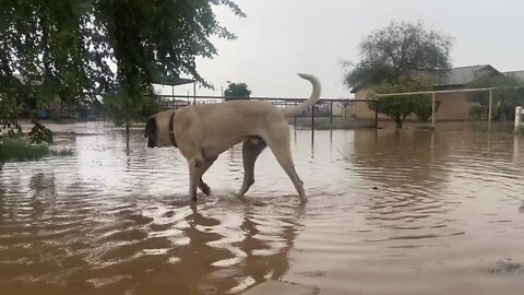
[[[359,45],[361,60],[345,62],[348,87],[394,82],[414,70],[443,70],[451,67],[452,38],[421,23],[391,22],[366,36]]]

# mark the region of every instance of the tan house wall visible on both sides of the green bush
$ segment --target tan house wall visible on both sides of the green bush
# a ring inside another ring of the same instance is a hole
[[[358,91],[355,94],[355,98],[366,99],[367,90]],[[440,102],[434,117],[437,120],[468,120],[471,119],[469,109],[478,105],[477,103],[468,102],[464,93],[440,93],[434,98],[437,104]],[[374,118],[374,110],[369,109],[368,104],[364,102],[355,103],[355,114],[359,119]],[[379,118],[388,117],[379,114]],[[417,117],[410,115],[408,119],[417,119]]]

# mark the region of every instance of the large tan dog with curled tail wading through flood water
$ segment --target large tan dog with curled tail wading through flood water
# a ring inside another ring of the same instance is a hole
[[[148,138],[147,146],[176,146],[180,150],[189,164],[191,201],[196,200],[196,187],[210,194],[210,187],[202,180],[202,175],[221,153],[239,142],[243,142],[245,176],[238,191],[238,197],[242,197],[254,182],[257,157],[265,146],[270,146],[303,203],[307,201],[306,192],[293,163],[286,117],[299,115],[314,105],[321,87],[315,76],[299,75],[313,85],[311,96],[300,105],[278,109],[261,101],[233,101],[162,111],[147,119],[144,134]]]

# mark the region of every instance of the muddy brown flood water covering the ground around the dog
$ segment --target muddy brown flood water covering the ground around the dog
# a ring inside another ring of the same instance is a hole
[[[237,200],[236,146],[193,211],[178,151],[82,131],[1,167],[0,294],[524,294],[524,138],[291,131],[305,206],[267,150]]]

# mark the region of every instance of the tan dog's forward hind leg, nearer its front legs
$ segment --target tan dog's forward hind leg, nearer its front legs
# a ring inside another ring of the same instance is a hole
[[[254,184],[254,163],[266,144],[261,138],[250,138],[242,144],[243,182],[237,193],[241,198]]]

